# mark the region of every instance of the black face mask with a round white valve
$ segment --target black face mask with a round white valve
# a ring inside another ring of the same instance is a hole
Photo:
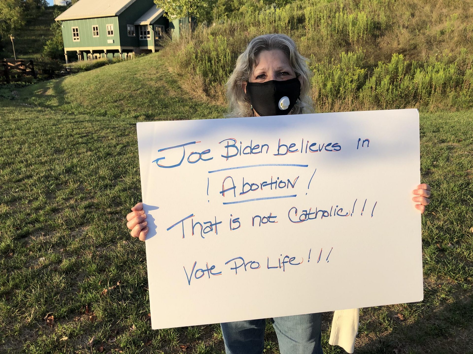
[[[260,116],[280,116],[288,114],[300,94],[297,77],[289,80],[270,80],[246,84],[246,96],[253,109]]]

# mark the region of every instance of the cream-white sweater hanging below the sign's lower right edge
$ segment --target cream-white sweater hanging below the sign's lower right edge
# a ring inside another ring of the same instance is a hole
[[[347,353],[353,353],[359,326],[359,309],[333,312],[332,329],[328,343],[341,346]]]

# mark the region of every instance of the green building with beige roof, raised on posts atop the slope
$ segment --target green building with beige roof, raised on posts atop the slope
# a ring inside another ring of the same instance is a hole
[[[79,0],[55,19],[61,21],[66,63],[68,53],[90,60],[157,51],[163,36],[178,38],[186,22],[163,15],[153,0]]]

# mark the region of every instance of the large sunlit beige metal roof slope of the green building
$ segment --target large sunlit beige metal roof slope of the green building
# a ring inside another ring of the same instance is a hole
[[[118,16],[136,0],[79,0],[61,15],[56,21],[75,20]]]

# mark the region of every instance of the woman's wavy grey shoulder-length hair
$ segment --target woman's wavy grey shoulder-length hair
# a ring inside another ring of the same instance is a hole
[[[227,100],[229,113],[227,117],[253,117],[254,111],[251,103],[242,89],[243,82],[249,82],[254,67],[258,64],[258,56],[262,51],[280,50],[286,54],[289,63],[300,80],[300,96],[289,114],[314,112],[313,102],[310,98],[311,71],[307,66],[308,59],[297,50],[296,43],[285,34],[262,34],[254,37],[236,59],[235,69],[228,78]]]

